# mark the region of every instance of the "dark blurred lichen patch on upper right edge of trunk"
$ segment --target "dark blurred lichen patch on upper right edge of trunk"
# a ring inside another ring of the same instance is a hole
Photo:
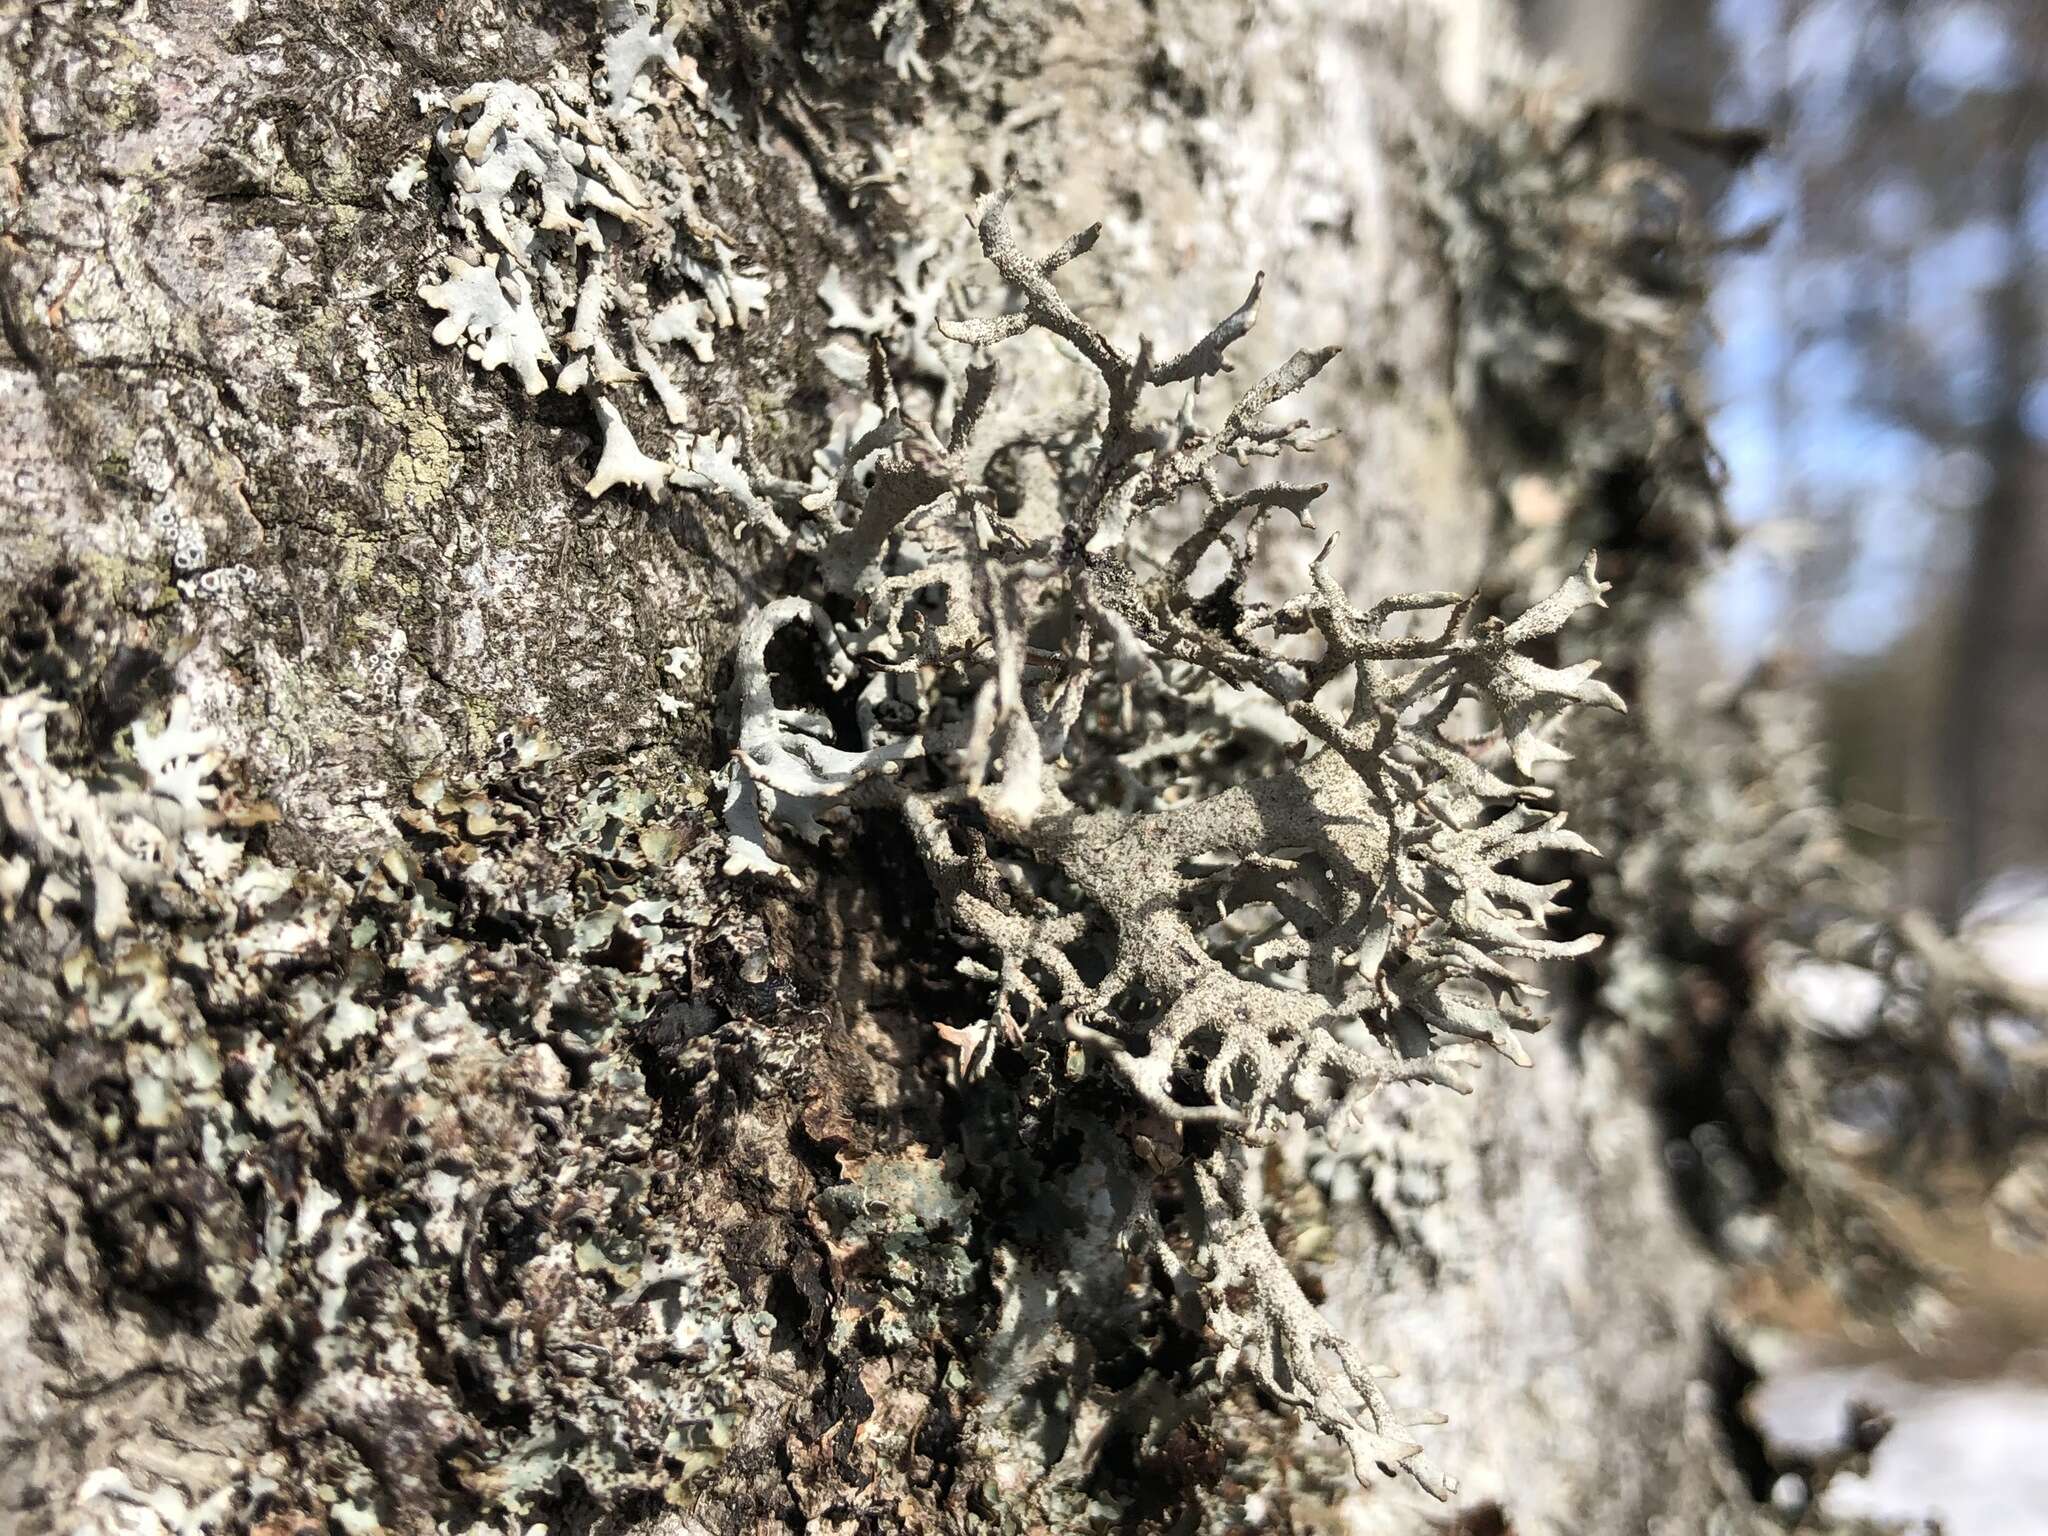
[[[1626,592],[1731,541],[1720,463],[1694,399],[1708,244],[1638,117],[1571,96],[1417,139],[1444,276],[1458,293],[1454,401],[1501,510],[1497,600],[1597,547]],[[1638,571],[1630,551],[1669,553]],[[1673,580],[1665,580],[1665,578]]]

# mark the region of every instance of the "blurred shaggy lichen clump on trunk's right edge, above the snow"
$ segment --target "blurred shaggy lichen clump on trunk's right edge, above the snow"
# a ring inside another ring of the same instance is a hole
[[[1645,817],[1593,881],[1618,930],[1602,1018],[1692,1085],[1671,1167],[1722,1253],[1927,1339],[1948,1278],[1888,1204],[1921,1192],[1960,1210],[1974,1190],[1993,1233],[2025,1241],[2048,995],[1968,928],[1888,907],[1796,696],[1739,692],[1690,729],[1686,762],[1649,737],[1593,770],[1608,815]]]

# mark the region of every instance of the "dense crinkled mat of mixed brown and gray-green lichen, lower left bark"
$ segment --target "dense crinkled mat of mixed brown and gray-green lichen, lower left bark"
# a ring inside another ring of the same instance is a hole
[[[279,1436],[109,1464],[78,1530],[416,1532],[717,1466],[772,1352],[635,1044],[729,924],[690,805],[512,735],[330,872],[262,850],[274,811],[182,694],[90,770],[51,752],[70,713],[0,696],[0,915],[61,995],[59,1178],[109,1296],[211,1331],[221,1411]]]

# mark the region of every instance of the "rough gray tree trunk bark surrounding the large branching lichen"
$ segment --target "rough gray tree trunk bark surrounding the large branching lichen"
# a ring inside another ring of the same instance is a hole
[[[4,23],[8,1526],[1745,1528],[1716,1260],[1583,965],[1530,1071],[1255,1159],[1321,1315],[1448,1415],[1446,1509],[1171,1305],[1114,1210],[1157,1126],[1100,1063],[969,1081],[901,825],[729,874],[717,778],[735,633],[807,569],[719,465],[805,481],[870,340],[948,401],[1004,184],[1034,250],[1104,221],[1061,283],[1122,346],[1264,270],[1210,391],[1343,346],[1321,526],[1253,586],[1335,537],[1360,600],[1516,612],[1618,543],[1589,645],[1649,686],[1718,537],[1665,184],[1479,0],[672,18],[668,61],[631,4]],[[596,115],[618,70],[604,133],[719,268],[674,410],[631,391],[639,449],[686,424],[639,485],[594,393],[420,295],[477,260],[463,94]]]

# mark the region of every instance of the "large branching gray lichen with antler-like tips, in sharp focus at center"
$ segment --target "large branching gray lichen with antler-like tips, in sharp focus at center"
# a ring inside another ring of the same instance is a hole
[[[1325,547],[1307,592],[1255,600],[1262,530],[1313,526],[1325,487],[1227,489],[1223,461],[1311,449],[1307,422],[1266,414],[1333,350],[1294,352],[1214,428],[1192,391],[1155,414],[1151,391],[1229,371],[1260,287],[1186,352],[1126,352],[1053,281],[1100,225],[1032,258],[997,193],[977,229],[1022,307],[940,330],[977,348],[1049,332],[1098,389],[999,401],[977,360],[942,436],[877,358],[877,416],[809,502],[819,590],[739,639],[727,870],[782,877],[776,838],[901,815],[991,999],[948,1028],[965,1075],[1026,1038],[1108,1063],[1188,1212],[1163,1217],[1139,1180],[1128,1241],[1223,1366],[1339,1436],[1360,1473],[1444,1495],[1274,1249],[1247,1149],[1358,1114],[1380,1083],[1462,1090],[1473,1042],[1528,1061],[1526,963],[1597,942],[1546,936],[1561,887],[1513,870],[1591,852],[1534,782],[1565,756],[1546,717],[1620,707],[1593,664],[1528,651],[1604,586],[1587,559],[1513,621],[1452,592],[1360,608]],[[778,700],[784,631],[809,633],[825,696]]]

